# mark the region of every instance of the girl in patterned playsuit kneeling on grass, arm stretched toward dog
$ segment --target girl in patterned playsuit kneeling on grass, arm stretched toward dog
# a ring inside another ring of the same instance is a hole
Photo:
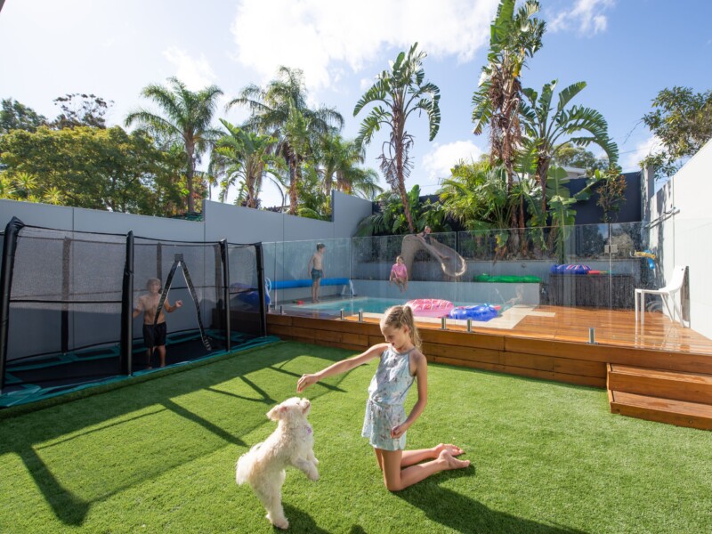
[[[419,350],[413,312],[408,306],[392,306],[381,319],[381,332],[387,343],[339,361],[312,375],[303,375],[296,384],[302,392],[322,378],[350,371],[363,363],[380,358],[376,375],[368,386],[366,417],[361,435],[368,438],[376,452],[378,466],[384,473],[385,487],[399,491],[431,474],[470,465],[456,457],[464,451],[441,443],[433,449],[405,450],[406,431],[423,413],[427,403],[427,361]],[[417,378],[417,402],[406,417],[403,404],[410,386]],[[424,460],[430,460],[425,463]]]

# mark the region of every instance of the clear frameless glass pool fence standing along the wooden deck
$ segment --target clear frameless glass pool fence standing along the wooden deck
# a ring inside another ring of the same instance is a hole
[[[265,244],[265,268],[272,279],[303,281],[272,289],[272,303],[288,313],[368,318],[412,302],[421,307],[418,320],[433,328],[446,316],[447,328],[467,328],[470,320],[473,331],[540,330],[583,343],[638,343],[635,288],[665,286],[685,223],[698,236],[712,225],[679,222],[675,231],[672,221],[600,223],[326,240],[324,279],[343,276],[350,283],[321,284],[318,303],[312,303],[312,266],[307,269],[316,240]],[[694,297],[685,298],[690,315]],[[646,295],[645,309],[670,322],[659,295]]]

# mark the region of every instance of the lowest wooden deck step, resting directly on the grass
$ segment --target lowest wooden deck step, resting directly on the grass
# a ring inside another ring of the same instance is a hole
[[[712,406],[609,390],[611,412],[670,425],[712,430]]]

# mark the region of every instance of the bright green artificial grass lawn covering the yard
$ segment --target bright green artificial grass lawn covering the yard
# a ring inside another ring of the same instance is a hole
[[[274,344],[0,420],[0,531],[272,532],[235,462],[298,376],[349,354]],[[712,433],[612,415],[602,390],[440,365],[409,449],[451,441],[473,465],[391,494],[360,437],[375,368],[303,393],[321,479],[287,470],[290,531],[712,531]]]

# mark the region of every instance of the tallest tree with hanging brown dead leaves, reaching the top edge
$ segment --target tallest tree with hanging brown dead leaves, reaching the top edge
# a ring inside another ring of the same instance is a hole
[[[473,134],[490,128],[490,164],[501,161],[507,171],[507,188],[514,183],[514,154],[521,129],[519,108],[522,101],[520,75],[530,58],[541,48],[546,23],[534,18],[536,0],[528,0],[514,12],[515,0],[502,0],[490,27],[488,64],[482,68],[480,84],[473,93]],[[516,224],[513,212],[512,226]]]

